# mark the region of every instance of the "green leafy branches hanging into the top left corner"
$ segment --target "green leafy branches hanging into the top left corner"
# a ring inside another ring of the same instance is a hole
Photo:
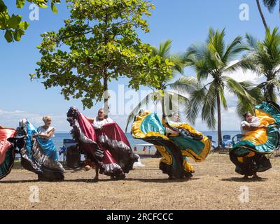
[[[48,2],[54,13],[57,13],[55,3],[60,3],[60,0],[27,0],[30,3],[36,3],[41,8],[48,8]],[[16,7],[22,8],[25,6],[25,0],[16,0]],[[28,28],[29,23],[22,21],[21,15],[10,15],[8,7],[3,0],[0,0],[0,29],[5,32],[4,37],[6,41],[20,41],[25,30]]]

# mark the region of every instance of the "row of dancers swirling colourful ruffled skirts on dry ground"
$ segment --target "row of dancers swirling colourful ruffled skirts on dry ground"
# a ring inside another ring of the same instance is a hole
[[[118,124],[99,109],[95,118],[87,118],[75,107],[67,113],[72,127],[71,134],[80,153],[85,154],[86,167],[111,179],[125,179],[133,169],[138,157]],[[20,120],[16,129],[0,125],[0,179],[7,176],[13,167],[15,153],[20,153],[22,167],[38,175],[39,181],[63,181],[64,167],[57,158],[52,138],[50,116],[43,117],[44,125],[36,128],[28,120]],[[230,160],[235,171],[258,178],[272,165],[267,155],[279,145],[280,107],[272,102],[255,106],[254,114],[244,113],[239,141],[233,141]],[[180,122],[179,113],[159,118],[157,113],[139,111],[131,130],[135,139],[155,145],[162,159],[160,169],[169,179],[190,179],[195,172],[188,159],[202,162],[211,150],[211,140],[187,123]]]

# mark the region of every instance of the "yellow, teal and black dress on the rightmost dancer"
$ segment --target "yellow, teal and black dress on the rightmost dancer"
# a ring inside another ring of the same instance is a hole
[[[244,132],[239,136],[241,141],[234,141],[230,151],[230,160],[236,165],[235,172],[246,176],[270,169],[272,165],[266,155],[273,153],[279,145],[279,105],[265,102],[255,106],[254,112],[258,120],[253,120],[253,123],[259,128]]]

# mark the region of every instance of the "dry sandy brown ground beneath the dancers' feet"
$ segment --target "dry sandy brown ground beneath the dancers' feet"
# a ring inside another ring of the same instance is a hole
[[[0,181],[0,209],[280,209],[280,158],[262,179],[245,181],[235,173],[228,155],[211,154],[192,164],[191,181],[170,181],[158,169],[158,159],[141,160],[124,181],[111,181],[94,171],[66,170],[64,182],[38,182],[25,169],[16,169]],[[38,189],[39,202],[30,202]],[[248,197],[244,194],[248,190]],[[34,191],[33,191],[34,192]],[[241,202],[239,198],[248,200]]]

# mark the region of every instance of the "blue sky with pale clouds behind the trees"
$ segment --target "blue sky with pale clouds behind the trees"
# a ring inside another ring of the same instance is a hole
[[[238,35],[246,32],[257,38],[263,38],[264,27],[258,14],[258,8],[253,0],[154,0],[155,10],[151,18],[148,18],[151,32],[149,34],[139,33],[141,39],[151,45],[159,45],[160,42],[172,39],[172,52],[184,52],[192,43],[205,41],[209,27],[215,29],[226,29],[226,40],[231,41]],[[24,20],[29,21],[29,3],[24,8],[15,8],[15,1],[5,1],[10,13],[20,13]],[[246,3],[249,6],[249,20],[239,20],[239,6]],[[63,26],[63,21],[69,18],[69,11],[65,3],[57,6],[59,13],[55,15],[49,9],[40,9],[39,20],[29,21],[29,29],[26,35],[22,36],[20,42],[6,43],[3,33],[0,32],[0,124],[16,127],[20,118],[27,118],[35,125],[41,125],[43,115],[53,117],[53,125],[57,130],[70,130],[66,122],[66,112],[70,106],[76,106],[83,111],[79,100],[64,100],[60,94],[59,87],[45,90],[40,81],[32,83],[29,80],[29,73],[34,73],[36,62],[41,55],[36,48],[41,43],[40,34],[45,31],[58,30]],[[263,8],[265,18],[270,27],[279,25],[280,18],[277,12],[269,14]],[[186,69],[186,75],[195,75],[191,69]],[[241,73],[232,74],[234,78],[254,79],[253,74]],[[118,84],[127,85],[128,80],[121,78],[119,82],[113,81],[109,88],[118,90]],[[125,87],[127,90],[127,87]],[[146,90],[141,87],[141,90]],[[238,120],[235,115],[236,99],[228,94],[230,109],[223,111],[223,130],[238,130],[239,121],[228,123],[228,120]],[[129,99],[127,99],[129,100]],[[139,99],[140,100],[140,99]],[[102,104],[97,104],[94,109],[83,111],[86,116],[95,116],[97,109]],[[125,126],[126,116],[112,116],[121,127]],[[195,127],[199,130],[207,130],[201,120],[197,120]]]

